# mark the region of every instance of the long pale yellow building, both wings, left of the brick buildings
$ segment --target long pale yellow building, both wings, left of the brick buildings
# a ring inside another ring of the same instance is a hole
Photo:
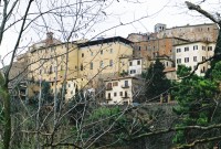
[[[69,99],[77,89],[96,87],[96,78],[127,72],[131,54],[131,42],[120,36],[62,43],[48,33],[45,40],[29,47],[29,78],[50,82],[53,93],[61,91],[65,81]]]

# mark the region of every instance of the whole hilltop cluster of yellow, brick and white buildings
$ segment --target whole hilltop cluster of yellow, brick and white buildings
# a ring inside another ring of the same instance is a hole
[[[45,40],[18,56],[10,77],[22,74],[23,81],[49,82],[52,93],[59,93],[65,86],[66,100],[84,89],[93,92],[102,104],[131,104],[145,86],[141,72],[156,58],[164,63],[166,76],[177,79],[178,65],[194,68],[213,55],[218,32],[213,23],[171,29],[156,24],[154,33],[69,43],[54,39],[49,32]],[[196,73],[203,76],[209,66],[209,62],[203,63]],[[27,83],[25,97],[35,92]]]

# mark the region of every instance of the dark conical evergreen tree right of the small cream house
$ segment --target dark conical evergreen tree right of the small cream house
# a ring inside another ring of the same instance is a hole
[[[170,88],[170,81],[167,79],[164,70],[164,64],[157,58],[143,74],[143,77],[146,79],[146,100],[152,98],[159,99],[160,95],[166,95]]]

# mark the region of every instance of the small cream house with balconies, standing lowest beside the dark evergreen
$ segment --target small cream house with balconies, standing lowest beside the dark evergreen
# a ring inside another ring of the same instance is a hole
[[[118,77],[105,81],[105,98],[108,105],[130,105],[138,98],[143,83],[136,77]]]

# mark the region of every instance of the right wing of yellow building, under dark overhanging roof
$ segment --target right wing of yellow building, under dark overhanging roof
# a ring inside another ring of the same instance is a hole
[[[120,36],[78,44],[78,77],[116,77],[128,70],[131,42]]]

